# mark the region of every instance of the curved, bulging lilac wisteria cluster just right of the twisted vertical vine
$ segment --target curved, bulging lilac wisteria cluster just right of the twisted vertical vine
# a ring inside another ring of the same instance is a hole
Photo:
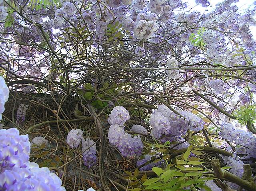
[[[140,156],[143,144],[140,136],[132,136],[124,131],[124,123],[130,119],[129,112],[122,106],[113,108],[108,118],[111,124],[108,129],[108,140],[110,144],[116,146],[124,157]]]

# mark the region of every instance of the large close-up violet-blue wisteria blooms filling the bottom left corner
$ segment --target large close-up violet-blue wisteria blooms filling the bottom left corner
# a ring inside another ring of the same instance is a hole
[[[65,191],[60,178],[48,167],[29,162],[28,135],[16,128],[0,130],[0,190]]]

